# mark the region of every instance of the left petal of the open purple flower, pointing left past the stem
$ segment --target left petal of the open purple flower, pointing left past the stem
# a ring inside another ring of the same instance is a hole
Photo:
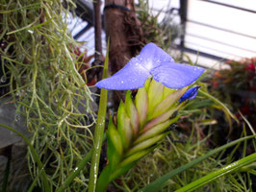
[[[149,71],[142,67],[140,60],[133,58],[110,78],[95,84],[98,88],[128,90],[143,87]]]

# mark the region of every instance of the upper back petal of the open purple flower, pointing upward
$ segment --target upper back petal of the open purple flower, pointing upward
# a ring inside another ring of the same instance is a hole
[[[152,42],[143,47],[137,58],[141,61],[142,66],[149,71],[161,65],[162,62],[174,61],[163,49]]]

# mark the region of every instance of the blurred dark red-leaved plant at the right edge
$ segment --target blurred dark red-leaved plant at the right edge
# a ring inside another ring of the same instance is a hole
[[[237,118],[256,127],[256,58],[228,60],[230,69],[218,70],[210,80],[211,92],[228,105]],[[243,117],[242,117],[243,116]]]

